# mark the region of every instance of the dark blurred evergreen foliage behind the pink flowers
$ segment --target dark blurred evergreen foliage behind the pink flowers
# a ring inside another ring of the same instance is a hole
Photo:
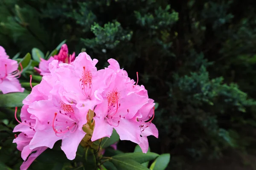
[[[131,78],[138,71],[157,103],[149,145],[171,154],[170,170],[256,170],[255,26],[254,0],[0,0],[10,58],[67,40],[98,68],[114,58]],[[15,169],[20,153],[2,137],[0,159]]]

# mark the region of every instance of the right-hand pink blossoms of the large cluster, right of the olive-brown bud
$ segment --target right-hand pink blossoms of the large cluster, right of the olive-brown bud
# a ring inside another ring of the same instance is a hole
[[[134,85],[126,71],[119,68],[114,59],[109,59],[112,70],[108,88],[102,93],[103,102],[96,106],[95,128],[92,141],[110,137],[113,128],[121,140],[130,140],[140,145],[143,153],[148,150],[147,136],[158,138],[158,130],[151,123],[154,119],[154,101],[148,99],[145,87]]]

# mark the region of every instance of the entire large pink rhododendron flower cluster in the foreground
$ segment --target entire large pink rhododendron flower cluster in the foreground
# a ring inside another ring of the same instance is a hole
[[[21,122],[14,130],[21,132],[14,142],[22,151],[23,169],[58,140],[73,160],[81,142],[110,137],[113,129],[121,140],[139,144],[143,153],[148,151],[147,136],[158,137],[151,122],[154,100],[145,87],[135,84],[115,59],[102,70],[97,62],[85,52],[70,63],[52,60],[49,74],[23,100]]]

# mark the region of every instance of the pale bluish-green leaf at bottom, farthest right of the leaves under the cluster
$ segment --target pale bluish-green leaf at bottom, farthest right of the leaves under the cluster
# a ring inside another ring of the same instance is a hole
[[[165,153],[160,156],[151,164],[150,170],[165,170],[170,161],[170,154]]]

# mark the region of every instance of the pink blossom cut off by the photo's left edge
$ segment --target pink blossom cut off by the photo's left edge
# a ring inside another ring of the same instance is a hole
[[[23,92],[20,82],[17,79],[21,72],[18,70],[18,62],[9,59],[5,49],[0,46],[0,91],[3,94],[11,92]]]

